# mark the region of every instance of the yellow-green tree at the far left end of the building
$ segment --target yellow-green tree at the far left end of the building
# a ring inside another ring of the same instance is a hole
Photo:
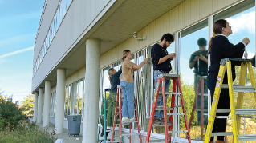
[[[22,101],[22,113],[26,116],[33,116],[34,114],[34,97],[33,94],[30,94]]]

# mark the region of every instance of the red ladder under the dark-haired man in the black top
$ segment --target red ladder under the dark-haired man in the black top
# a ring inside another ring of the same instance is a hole
[[[166,80],[173,80],[173,92],[171,93],[165,93],[165,79]],[[161,84],[162,83],[162,84]],[[148,133],[147,133],[147,137],[146,137],[146,143],[149,142],[149,138],[150,138],[150,134],[151,134],[151,130],[152,130],[152,125],[153,125],[153,119],[154,119],[154,115],[155,115],[155,111],[156,111],[156,102],[157,102],[157,98],[159,95],[159,90],[160,90],[160,85],[162,85],[162,95],[163,95],[163,107],[158,107],[157,109],[164,110],[164,119],[165,119],[165,143],[170,143],[171,139],[172,139],[172,133],[185,133],[185,135],[188,138],[189,143],[191,143],[191,138],[189,135],[189,127],[188,127],[188,121],[187,121],[187,117],[186,117],[186,113],[185,113],[185,105],[184,105],[184,99],[183,99],[183,95],[182,95],[182,90],[181,90],[181,81],[180,81],[180,76],[177,74],[161,74],[157,77],[157,83],[156,83],[156,91],[155,91],[155,96],[154,96],[154,102],[152,105],[152,111],[150,114],[150,120],[149,120],[149,124],[148,124]],[[177,85],[178,85],[178,91],[180,91],[180,93],[177,93],[176,89],[177,89]],[[170,113],[167,113],[166,111],[166,97],[165,94],[172,94],[172,102],[171,102],[171,109]],[[179,97],[181,99],[181,105],[177,105],[175,106],[175,97]],[[179,107],[182,107],[182,112],[183,113],[174,113],[174,110],[177,111],[179,109]],[[177,109],[175,109],[177,108]],[[167,115],[169,115],[169,121],[171,121],[171,125],[167,125]],[[173,115],[183,115],[181,117],[183,117],[185,119],[185,128],[186,130],[179,130],[179,131],[173,131]],[[153,140],[153,141],[162,141],[162,140]],[[152,142],[152,141],[150,141]]]

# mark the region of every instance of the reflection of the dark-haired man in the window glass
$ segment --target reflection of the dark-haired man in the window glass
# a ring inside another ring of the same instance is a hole
[[[191,54],[191,57],[189,59],[189,68],[192,69],[194,68],[193,72],[195,73],[194,75],[194,89],[195,89],[195,95],[197,96],[198,92],[198,85],[199,85],[199,80],[201,80],[202,77],[204,77],[204,93],[207,93],[207,81],[206,81],[206,76],[208,72],[208,50],[205,50],[206,47],[206,40],[205,38],[199,38],[197,40],[197,45],[199,46],[199,50],[195,51],[193,54]],[[201,85],[202,86],[202,85]],[[204,97],[204,109],[207,110],[207,96]],[[197,98],[197,107],[201,109],[201,88],[199,89],[199,96]],[[204,113],[207,113],[205,111]],[[204,117],[204,123],[207,123],[207,118]],[[200,123],[201,122],[201,111],[197,112],[197,121]]]

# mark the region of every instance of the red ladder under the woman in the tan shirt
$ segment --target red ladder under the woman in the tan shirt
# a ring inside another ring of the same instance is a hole
[[[119,107],[117,107],[117,102],[119,103]],[[132,143],[132,136],[139,136],[139,139],[140,139],[140,143],[142,143],[142,140],[141,140],[141,133],[140,133],[140,123],[138,121],[138,113],[136,111],[137,107],[136,107],[136,100],[135,100],[135,97],[134,97],[134,107],[135,107],[135,117],[136,117],[136,121],[121,121],[121,117],[122,117],[122,105],[121,105],[122,101],[121,101],[121,89],[120,89],[120,85],[117,85],[117,95],[116,95],[116,109],[115,109],[115,117],[114,117],[114,124],[113,124],[113,130],[112,130],[112,143],[113,142],[123,142],[122,141],[122,137],[124,136],[129,136],[129,142]],[[115,126],[116,126],[116,110],[117,108],[119,108],[119,118],[120,118],[120,121],[119,121],[119,141],[114,141],[114,133],[115,133]],[[137,128],[138,128],[138,133],[136,132],[133,132],[134,131],[134,123],[137,123]],[[130,126],[130,132],[129,133],[125,133],[123,134],[122,133],[122,124],[125,124],[125,125],[129,125]]]

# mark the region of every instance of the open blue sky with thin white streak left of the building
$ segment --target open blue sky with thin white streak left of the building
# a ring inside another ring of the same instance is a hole
[[[33,49],[44,0],[0,0],[0,88],[21,101],[31,93]]]

